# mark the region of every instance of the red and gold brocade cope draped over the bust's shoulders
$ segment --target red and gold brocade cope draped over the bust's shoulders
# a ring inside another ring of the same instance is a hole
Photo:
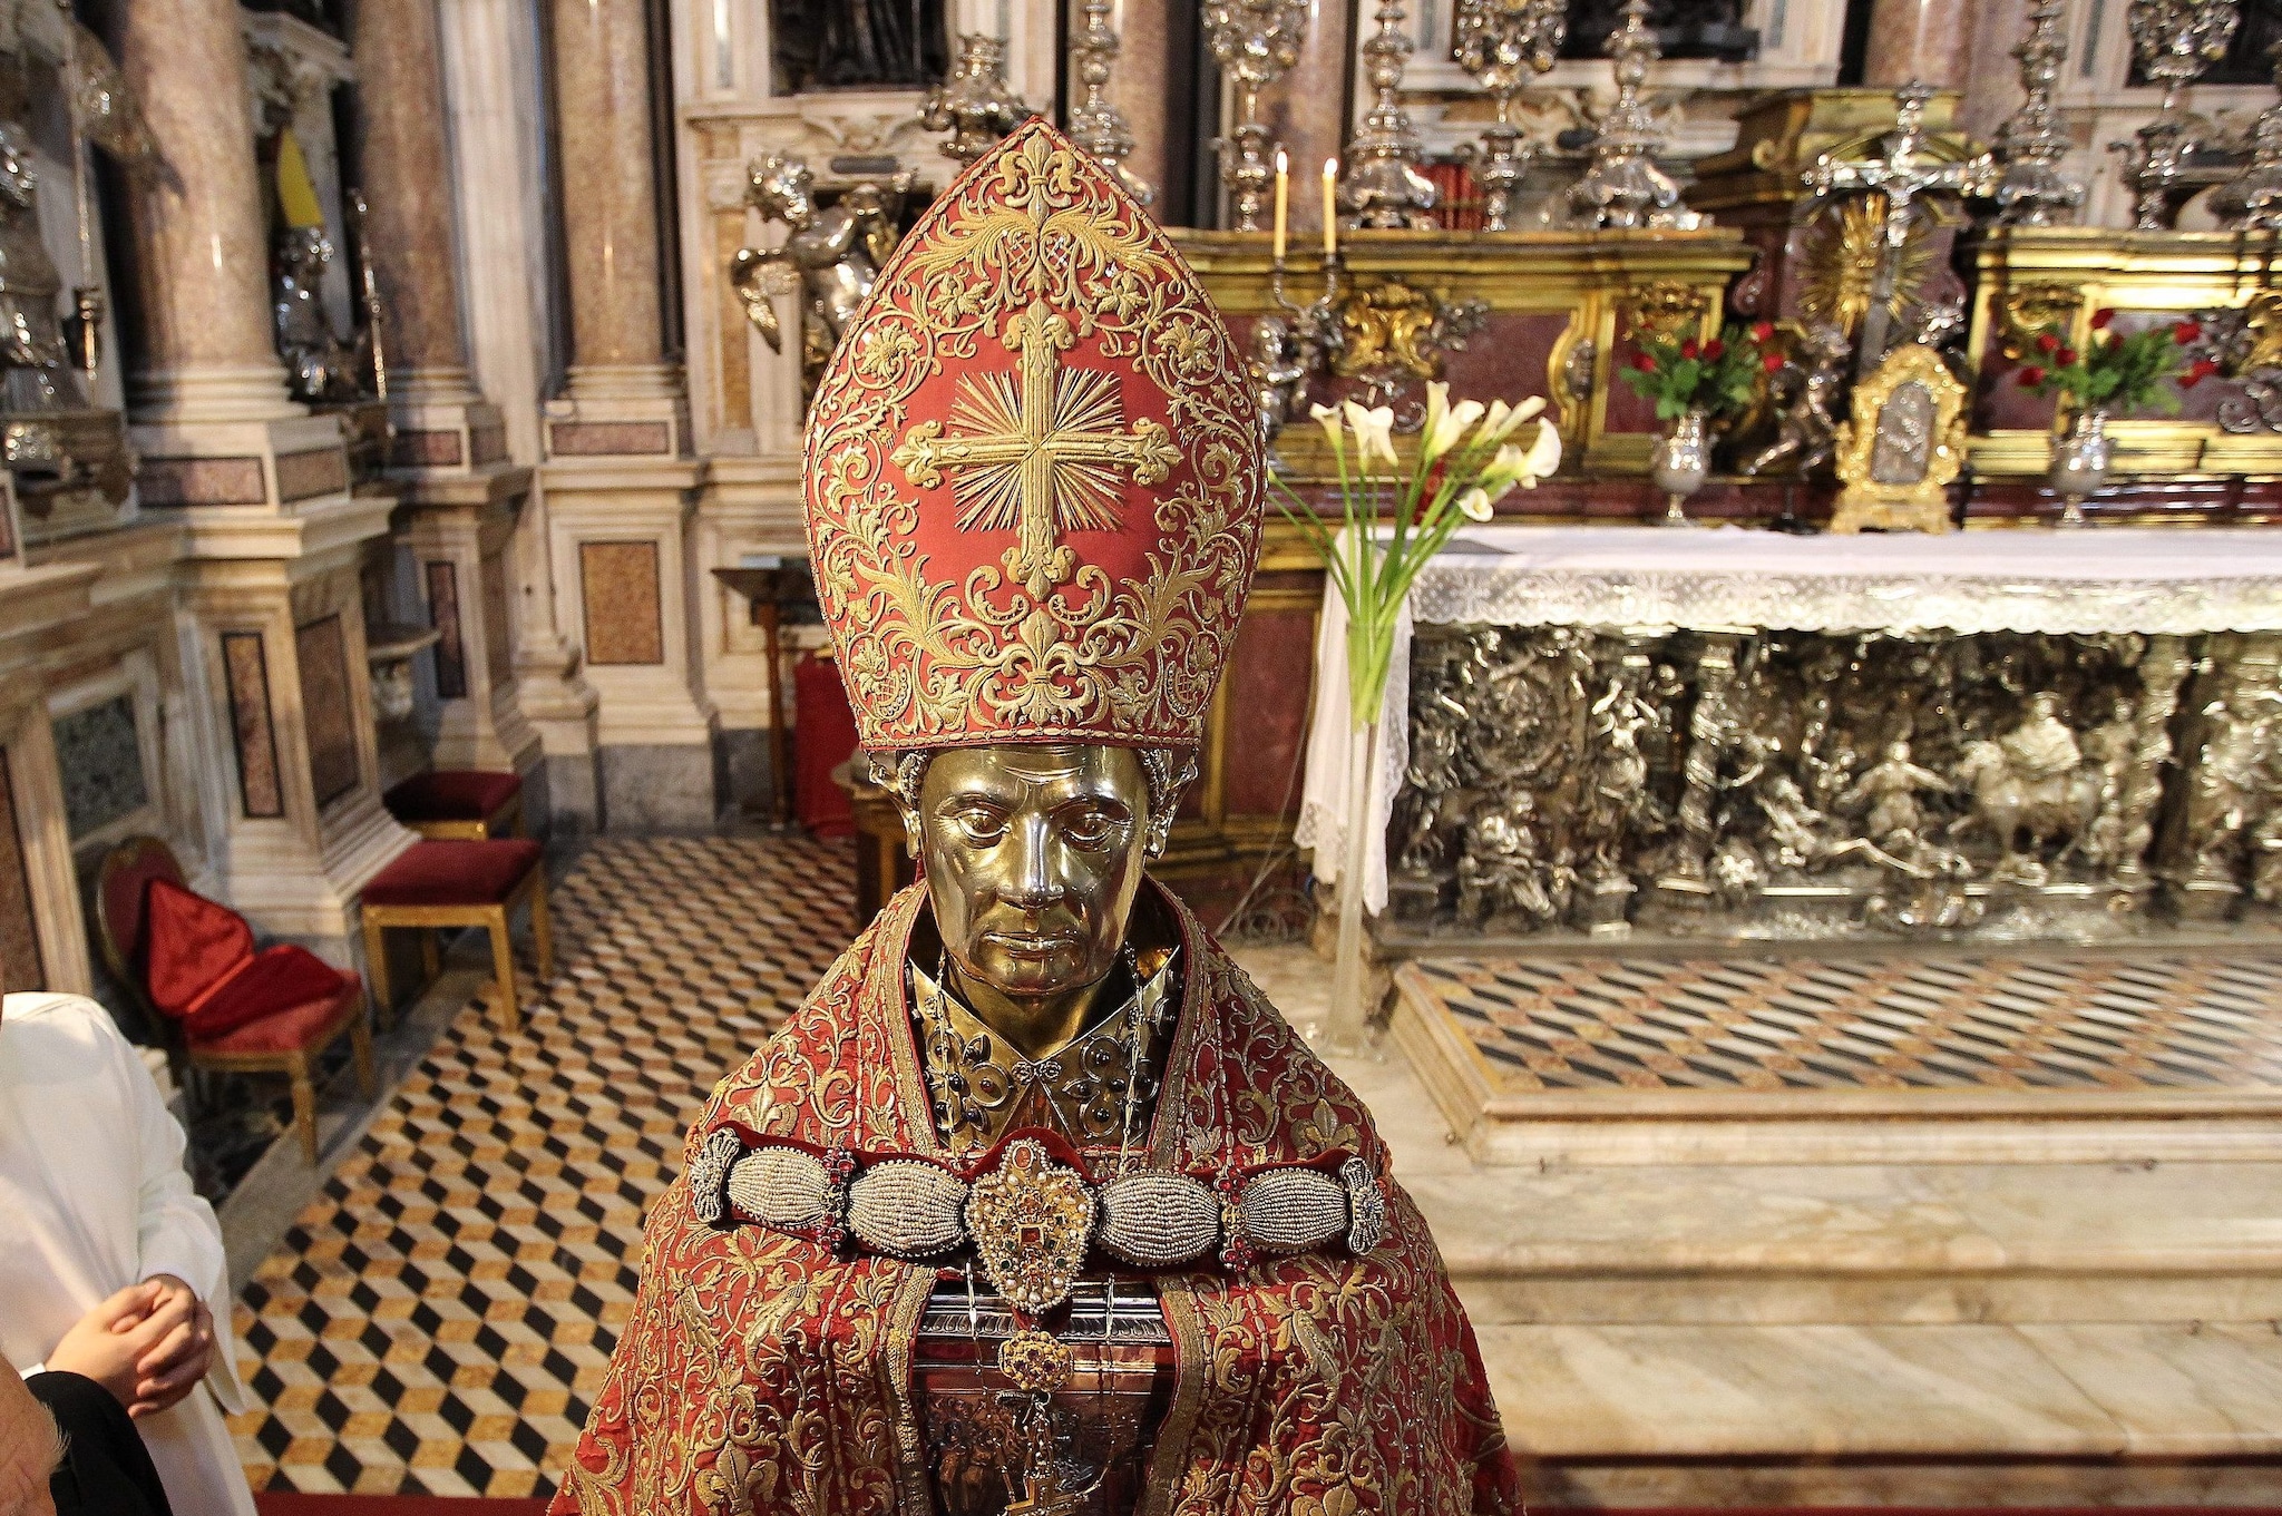
[[[1168,894],[1182,1010],[1148,1165],[1317,1163],[1385,1172],[1362,1103]],[[899,894],[808,1005],[721,1083],[721,1122],[817,1149],[947,1156],[913,1037],[906,957],[924,889]],[[1387,1181],[1387,1240],[1157,1274],[1173,1393],[1143,1516],[1520,1511],[1474,1331],[1426,1224]],[[913,1345],[938,1270],[691,1215],[650,1213],[634,1313],[552,1511],[929,1516]]]

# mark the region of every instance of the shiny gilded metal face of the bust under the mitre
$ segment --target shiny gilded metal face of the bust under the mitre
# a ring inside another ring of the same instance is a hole
[[[952,748],[926,766],[917,846],[958,971],[1015,1001],[1100,980],[1148,853],[1132,748]]]

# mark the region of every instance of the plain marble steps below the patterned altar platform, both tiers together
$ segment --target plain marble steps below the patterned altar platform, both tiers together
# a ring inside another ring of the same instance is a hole
[[[1319,1012],[1319,960],[1241,957]],[[2282,1160],[1515,1167],[1399,1046],[1335,1067],[1534,1505],[2282,1507]]]

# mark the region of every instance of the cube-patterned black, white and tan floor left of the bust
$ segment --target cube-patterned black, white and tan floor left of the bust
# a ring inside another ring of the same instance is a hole
[[[237,1304],[253,1489],[548,1495],[705,1094],[851,939],[847,843],[605,839],[525,1030],[475,1001]]]

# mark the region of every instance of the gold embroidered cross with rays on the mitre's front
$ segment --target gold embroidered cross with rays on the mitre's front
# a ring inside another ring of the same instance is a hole
[[[1075,342],[1070,321],[1031,301],[1006,317],[1006,351],[1015,374],[968,374],[952,404],[952,431],[920,422],[890,454],[915,488],[942,483],[954,470],[961,531],[1015,531],[1002,559],[1031,597],[1043,597],[1077,570],[1063,531],[1118,529],[1118,470],[1134,483],[1162,481],[1180,449],[1157,422],[1118,431],[1118,376],[1061,367]]]

